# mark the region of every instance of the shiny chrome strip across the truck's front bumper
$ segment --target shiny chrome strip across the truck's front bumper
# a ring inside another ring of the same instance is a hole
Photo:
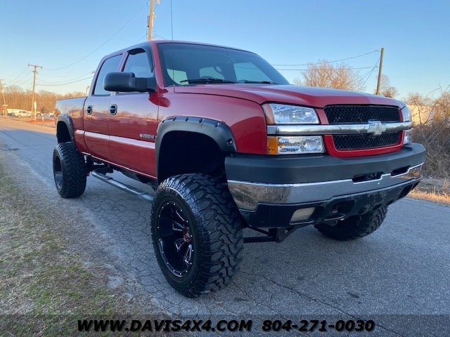
[[[299,184],[264,184],[228,180],[228,186],[239,209],[255,211],[260,203],[302,204],[410,183],[411,180],[421,178],[422,165],[423,163],[413,166],[399,175],[392,176],[391,173],[386,173],[379,179],[359,183],[354,183],[352,179]]]

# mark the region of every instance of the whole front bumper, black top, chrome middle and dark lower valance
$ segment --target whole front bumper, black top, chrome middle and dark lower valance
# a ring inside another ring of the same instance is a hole
[[[370,157],[227,157],[226,175],[240,213],[252,227],[335,222],[406,196],[420,181],[425,148],[409,144]],[[299,209],[307,218],[295,219]]]

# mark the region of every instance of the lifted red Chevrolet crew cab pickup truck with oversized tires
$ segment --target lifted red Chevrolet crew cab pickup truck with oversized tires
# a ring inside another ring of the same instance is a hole
[[[91,174],[152,201],[158,263],[191,297],[229,284],[244,242],[281,242],[307,225],[338,240],[371,234],[425,160],[404,103],[292,86],[255,53],[206,44],[105,56],[89,96],[56,112],[58,193],[81,196]]]

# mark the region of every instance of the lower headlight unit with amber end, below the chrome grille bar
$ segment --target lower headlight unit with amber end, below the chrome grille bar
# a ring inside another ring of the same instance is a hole
[[[321,136],[268,137],[267,154],[323,153]]]

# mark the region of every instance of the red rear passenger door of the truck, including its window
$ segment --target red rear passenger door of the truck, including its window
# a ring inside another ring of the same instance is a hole
[[[117,72],[122,55],[115,55],[103,60],[97,71],[92,94],[84,103],[84,140],[88,152],[100,159],[110,161],[110,147],[108,140],[108,115],[110,107],[109,91],[103,88],[103,79],[108,72]]]

